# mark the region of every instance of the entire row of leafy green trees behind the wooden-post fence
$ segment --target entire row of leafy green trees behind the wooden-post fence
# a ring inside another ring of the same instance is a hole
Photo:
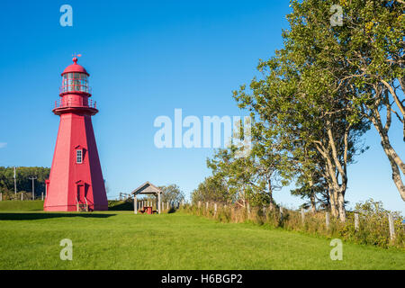
[[[292,193],[312,211],[327,209],[345,221],[347,166],[367,149],[370,129],[405,201],[404,149],[392,146],[392,139],[405,141],[405,2],[338,1],[341,25],[331,22],[336,2],[291,2],[284,47],[259,61],[261,76],[234,91],[253,119],[251,153],[237,157],[244,148],[235,145],[218,150],[194,202],[271,206],[274,191],[293,183]],[[389,134],[393,122],[403,134]]]

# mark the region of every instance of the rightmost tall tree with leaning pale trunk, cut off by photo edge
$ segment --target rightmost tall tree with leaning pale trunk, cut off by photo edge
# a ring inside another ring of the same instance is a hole
[[[392,147],[392,116],[400,121],[405,141],[404,109],[404,1],[340,1],[345,13],[342,26],[330,26],[329,8],[335,1],[293,1],[289,15],[290,38],[296,58],[323,63],[321,75],[336,76],[354,110],[352,121],[365,118],[381,137],[392,166],[392,180],[405,201],[405,164]],[[289,43],[290,44],[290,43]]]

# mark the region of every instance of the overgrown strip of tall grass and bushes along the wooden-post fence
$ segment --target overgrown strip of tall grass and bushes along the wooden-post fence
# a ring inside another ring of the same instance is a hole
[[[403,217],[399,212],[386,211],[382,202],[374,202],[370,199],[356,205],[355,211],[347,211],[345,223],[330,217],[329,228],[326,225],[326,212],[305,213],[302,222],[301,211],[283,209],[280,207],[255,207],[249,209],[239,206],[224,206],[217,204],[215,213],[213,205],[210,204],[207,210],[205,204],[200,208],[196,205],[187,205],[184,211],[194,215],[204,216],[221,222],[253,222],[258,225],[267,225],[272,228],[283,228],[287,230],[302,231],[312,235],[319,235],[327,238],[343,238],[358,244],[374,245],[378,247],[400,247],[404,248],[404,225],[401,223]],[[359,214],[359,228],[355,227],[355,213]],[[396,237],[392,241],[388,215],[393,215]]]

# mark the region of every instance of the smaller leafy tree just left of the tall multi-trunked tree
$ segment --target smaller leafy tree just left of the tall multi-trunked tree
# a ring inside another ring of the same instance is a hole
[[[273,193],[288,184],[289,158],[279,147],[277,130],[264,121],[252,123],[251,150],[231,145],[207,160],[212,175],[227,187],[229,201],[245,207],[273,206]],[[246,152],[246,151],[245,151]],[[243,155],[243,157],[239,157]]]

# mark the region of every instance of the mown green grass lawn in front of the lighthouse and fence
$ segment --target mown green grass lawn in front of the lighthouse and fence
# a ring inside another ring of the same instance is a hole
[[[63,238],[72,261],[59,258]],[[0,269],[405,269],[398,249],[348,243],[332,261],[329,242],[182,212],[0,211]]]

